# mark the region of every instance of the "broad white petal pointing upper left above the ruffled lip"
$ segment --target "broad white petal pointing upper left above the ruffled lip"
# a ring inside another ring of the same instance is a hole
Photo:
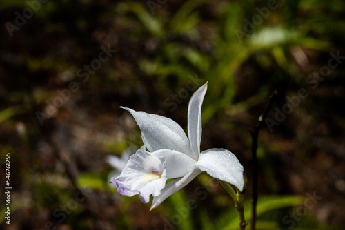
[[[194,156],[193,151],[190,149],[189,140],[184,129],[175,121],[164,116],[137,112],[126,107],[120,108],[128,110],[135,118],[141,129],[141,138],[149,151],[170,149],[187,154],[197,160],[197,156]]]

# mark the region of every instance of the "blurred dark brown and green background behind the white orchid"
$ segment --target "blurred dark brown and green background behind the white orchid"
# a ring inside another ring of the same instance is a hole
[[[259,134],[257,229],[343,229],[344,13],[342,0],[2,0],[1,229],[237,229],[207,174],[150,212],[108,184],[142,145],[119,106],[186,129],[206,81],[201,150],[244,165],[246,219],[250,129],[277,90]]]

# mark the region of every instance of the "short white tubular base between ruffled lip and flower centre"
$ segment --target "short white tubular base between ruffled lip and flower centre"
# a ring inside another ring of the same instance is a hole
[[[159,158],[165,158],[166,177],[168,179],[179,178],[186,175],[196,163],[195,160],[186,154],[182,154],[179,151],[170,149],[157,150],[152,152],[152,155],[155,155]]]

